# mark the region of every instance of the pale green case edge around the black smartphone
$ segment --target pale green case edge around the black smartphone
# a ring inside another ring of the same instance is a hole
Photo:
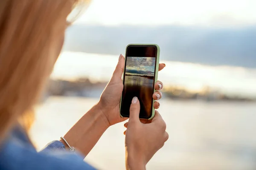
[[[155,81],[154,81],[154,84],[157,82],[157,78],[158,78],[158,69],[159,69],[159,58],[160,58],[160,47],[157,45],[157,44],[128,44],[127,46],[126,46],[126,48],[125,48],[125,58],[126,58],[126,51],[127,51],[127,48],[128,48],[128,46],[130,46],[130,45],[155,45],[156,47],[157,47],[157,63],[156,63],[156,73],[155,73]],[[126,60],[126,59],[125,59]],[[125,70],[124,70],[125,71]],[[124,71],[123,71],[123,76],[122,76],[122,81],[123,81],[123,83],[124,83]],[[155,92],[156,90],[154,89],[154,92]],[[153,104],[152,104],[152,116],[148,119],[148,120],[151,120],[151,119],[153,119],[154,118],[154,112],[155,112],[155,109],[154,109],[154,102],[155,102],[155,100],[153,99]],[[121,100],[120,100],[120,108],[119,108],[119,110],[120,110],[120,116],[121,117],[123,117],[122,115],[121,115],[121,103],[122,103],[122,96],[121,96]],[[140,118],[141,119],[141,118]]]

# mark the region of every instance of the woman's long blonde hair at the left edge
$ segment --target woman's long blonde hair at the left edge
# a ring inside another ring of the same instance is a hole
[[[37,102],[61,51],[74,3],[0,0],[0,140]]]

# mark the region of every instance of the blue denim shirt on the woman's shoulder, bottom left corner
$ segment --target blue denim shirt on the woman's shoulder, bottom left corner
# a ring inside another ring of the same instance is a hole
[[[60,141],[35,150],[26,133],[15,128],[0,145],[0,170],[95,170],[78,153],[65,150]]]

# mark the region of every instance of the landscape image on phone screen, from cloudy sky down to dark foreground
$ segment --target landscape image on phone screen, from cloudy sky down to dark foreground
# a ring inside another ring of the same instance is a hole
[[[154,88],[155,57],[127,57],[125,68],[123,111],[129,111],[131,100],[137,96],[140,101],[140,116],[151,114]]]

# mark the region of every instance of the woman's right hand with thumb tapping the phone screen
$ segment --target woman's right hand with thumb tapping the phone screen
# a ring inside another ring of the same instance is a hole
[[[148,161],[169,138],[166,123],[158,111],[155,111],[154,118],[147,124],[140,122],[139,113],[140,102],[134,97],[131,102],[129,122],[125,125],[127,170],[144,170]]]

